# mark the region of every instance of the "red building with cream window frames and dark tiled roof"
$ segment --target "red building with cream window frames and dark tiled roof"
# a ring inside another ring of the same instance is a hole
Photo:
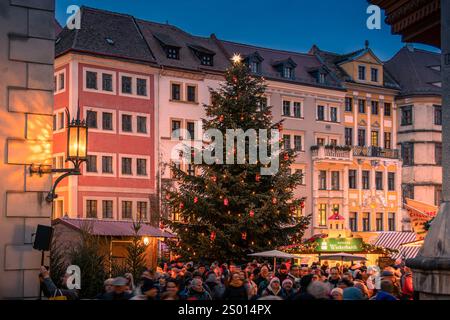
[[[155,61],[133,17],[89,8],[81,16],[81,29],[56,40],[53,166],[67,165],[66,109],[87,122],[88,161],[59,185],[53,218],[149,221],[158,206]]]

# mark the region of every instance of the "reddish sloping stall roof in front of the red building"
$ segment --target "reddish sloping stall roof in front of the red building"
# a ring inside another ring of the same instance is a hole
[[[97,236],[131,237],[134,235],[132,221],[118,220],[94,220],[94,219],[71,219],[60,218],[53,221],[53,225],[62,223],[69,228],[82,230],[88,228],[90,233]],[[174,235],[164,232],[148,224],[142,224],[138,235],[158,238],[173,238]]]

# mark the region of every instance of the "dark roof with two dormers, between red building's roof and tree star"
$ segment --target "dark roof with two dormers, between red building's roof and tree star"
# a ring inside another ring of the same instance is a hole
[[[139,29],[148,46],[155,55],[158,64],[164,67],[181,68],[193,71],[221,72],[229,66],[229,60],[218,47],[213,37],[204,38],[193,36],[175,26],[136,19]],[[169,59],[160,41],[176,43],[179,47],[180,59]],[[200,63],[196,52],[214,55],[213,66],[204,66]]]

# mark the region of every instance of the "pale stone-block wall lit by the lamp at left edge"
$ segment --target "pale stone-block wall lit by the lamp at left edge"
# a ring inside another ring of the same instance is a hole
[[[0,0],[0,299],[39,294],[38,224],[50,225],[54,0]],[[48,263],[48,262],[47,262]]]

